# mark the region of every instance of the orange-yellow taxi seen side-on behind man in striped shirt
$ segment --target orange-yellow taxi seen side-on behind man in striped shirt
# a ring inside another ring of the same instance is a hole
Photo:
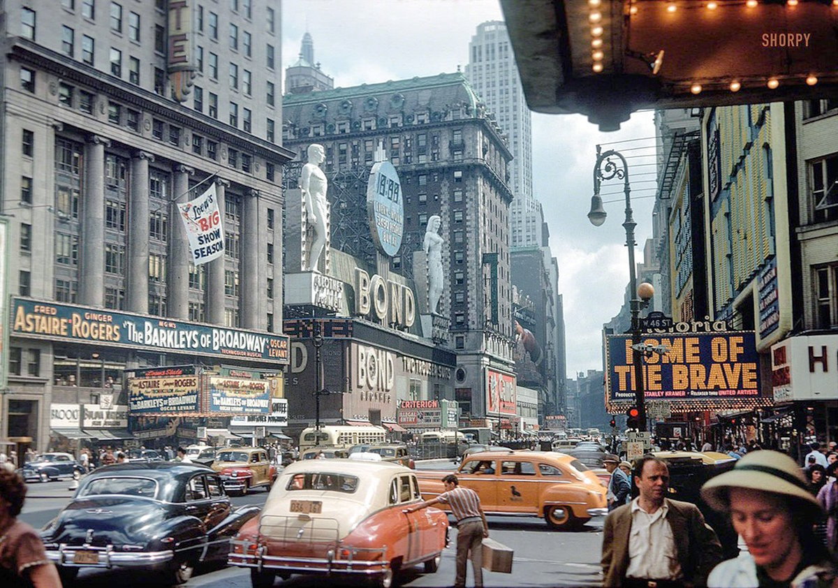
[[[417,470],[422,498],[444,492],[451,472]],[[463,458],[460,486],[480,496],[489,514],[545,518],[551,529],[568,529],[608,513],[606,487],[582,462],[553,451],[484,451]]]

